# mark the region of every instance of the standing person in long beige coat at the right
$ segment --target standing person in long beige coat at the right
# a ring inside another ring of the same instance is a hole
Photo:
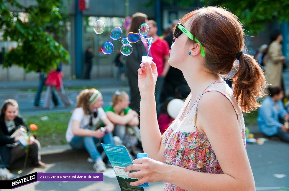
[[[271,43],[267,50],[267,63],[265,69],[265,75],[268,86],[283,86],[283,64],[285,64],[285,56],[282,55],[283,36],[279,30],[272,31]]]

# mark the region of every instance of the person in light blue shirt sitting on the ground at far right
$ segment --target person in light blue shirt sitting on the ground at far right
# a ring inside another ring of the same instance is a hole
[[[264,99],[262,107],[259,109],[257,117],[259,130],[269,137],[277,136],[289,143],[289,131],[281,123],[283,120],[289,119],[288,112],[282,102],[284,92],[281,86],[275,86],[268,87],[268,94],[269,96]]]

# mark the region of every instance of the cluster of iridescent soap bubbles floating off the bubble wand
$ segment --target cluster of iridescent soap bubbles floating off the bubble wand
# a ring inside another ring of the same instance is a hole
[[[105,29],[105,24],[104,21],[102,20],[97,20],[93,23],[92,25],[93,30],[96,34],[101,34],[104,32]],[[148,50],[150,50],[150,46],[153,42],[153,38],[146,38],[145,36],[148,35],[150,31],[150,27],[146,24],[143,23],[139,26],[139,33],[128,33],[127,37],[121,39],[122,46],[120,48],[121,54],[124,56],[128,56],[132,53],[132,45],[130,43],[136,43],[138,41],[142,41],[144,43],[148,43]],[[122,30],[120,27],[115,27],[111,33],[110,33],[110,38],[112,40],[118,40],[121,38],[122,35]],[[111,54],[114,51],[114,45],[108,41],[104,43],[104,45],[101,47],[101,51],[104,54]]]

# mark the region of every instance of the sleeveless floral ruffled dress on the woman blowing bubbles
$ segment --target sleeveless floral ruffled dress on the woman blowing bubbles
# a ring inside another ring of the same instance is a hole
[[[162,141],[162,144],[165,145],[165,164],[176,165],[197,172],[223,173],[207,136],[201,133],[196,126],[199,100],[204,93],[209,91],[217,91],[223,94],[233,105],[242,133],[244,146],[246,147],[245,124],[242,110],[226,82],[215,81],[198,96],[192,107],[188,108],[188,112],[185,114],[184,111],[191,102],[190,94],[185,100],[181,112],[166,130]],[[185,116],[183,117],[183,115]],[[169,182],[165,182],[164,190],[185,191]]]

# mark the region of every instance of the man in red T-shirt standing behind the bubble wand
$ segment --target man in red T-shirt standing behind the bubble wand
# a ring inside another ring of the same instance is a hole
[[[150,55],[154,59],[154,62],[157,65],[157,83],[155,85],[155,100],[157,104],[157,114],[161,112],[161,94],[162,88],[164,85],[164,79],[167,76],[167,73],[170,69],[170,65],[168,63],[168,59],[170,57],[169,54],[169,45],[167,41],[161,39],[157,35],[157,23],[153,20],[147,21],[148,26],[150,27],[149,36],[154,39],[151,48]]]

